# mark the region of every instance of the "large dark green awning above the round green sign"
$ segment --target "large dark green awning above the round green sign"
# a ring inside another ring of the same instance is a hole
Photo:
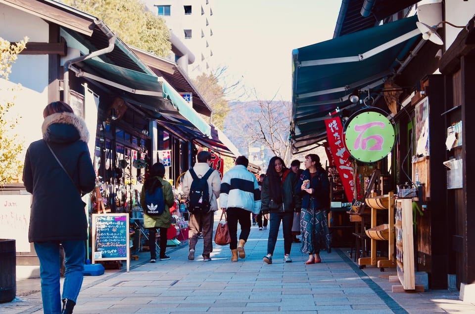
[[[294,152],[327,137],[323,120],[355,106],[348,100],[354,90],[380,88],[396,73],[421,36],[416,21],[412,16],[292,51]]]

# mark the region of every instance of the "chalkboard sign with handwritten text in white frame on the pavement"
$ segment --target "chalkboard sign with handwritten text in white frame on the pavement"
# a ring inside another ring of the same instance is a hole
[[[129,214],[93,214],[93,264],[127,261],[130,269]]]

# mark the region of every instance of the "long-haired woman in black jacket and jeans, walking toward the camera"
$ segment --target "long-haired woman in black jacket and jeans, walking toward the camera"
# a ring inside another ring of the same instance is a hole
[[[281,157],[272,157],[262,182],[261,202],[262,213],[269,219],[269,238],[267,255],[263,261],[272,264],[272,255],[277,242],[277,234],[282,221],[284,232],[284,262],[291,263],[290,249],[292,246],[292,220],[295,209],[300,209],[298,196],[298,178],[295,173],[285,167]]]

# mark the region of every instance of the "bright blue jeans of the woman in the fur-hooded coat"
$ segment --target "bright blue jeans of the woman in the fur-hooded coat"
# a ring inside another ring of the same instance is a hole
[[[63,294],[59,291],[59,241],[35,242],[35,250],[40,259],[41,297],[45,314],[61,313],[61,299],[74,301],[83,283],[86,246],[84,240],[61,241],[64,247],[66,272]]]

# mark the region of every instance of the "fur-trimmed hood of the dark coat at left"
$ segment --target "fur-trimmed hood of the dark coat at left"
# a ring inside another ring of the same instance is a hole
[[[78,134],[74,134],[76,132],[71,126],[77,130]],[[41,131],[43,133],[43,139],[47,142],[57,139],[58,137],[60,137],[60,141],[80,140],[86,143],[89,141],[89,131],[86,122],[71,113],[63,112],[47,116],[43,121]]]

